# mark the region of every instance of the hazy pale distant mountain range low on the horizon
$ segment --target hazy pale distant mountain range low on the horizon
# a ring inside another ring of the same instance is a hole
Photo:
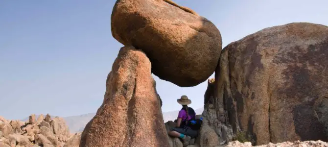
[[[195,109],[195,112],[197,115],[203,113],[204,108]],[[178,113],[180,110],[176,111],[169,111],[169,112],[163,112],[163,118],[164,122],[167,121],[174,121],[178,117]],[[85,125],[89,123],[89,121],[94,117],[95,113],[88,113],[83,115],[77,115],[77,116],[70,116],[70,117],[63,117],[66,121],[67,125],[70,128],[71,133],[81,132],[83,131]],[[39,115],[36,115],[36,118],[38,118]],[[54,118],[55,116],[51,116],[51,118]],[[28,121],[28,117],[23,119],[22,121]]]

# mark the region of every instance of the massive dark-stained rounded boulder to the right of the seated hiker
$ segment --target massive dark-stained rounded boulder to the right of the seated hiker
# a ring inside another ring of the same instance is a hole
[[[223,49],[216,73],[229,123],[254,145],[328,141],[327,26],[292,23],[248,35]]]

